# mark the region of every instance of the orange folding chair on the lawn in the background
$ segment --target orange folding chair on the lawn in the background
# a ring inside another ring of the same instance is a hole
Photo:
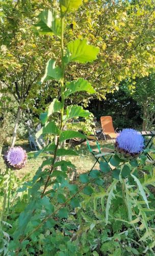
[[[101,116],[100,118],[102,133],[104,136],[109,136],[111,139],[116,139],[117,133],[114,130],[113,120],[111,116]]]

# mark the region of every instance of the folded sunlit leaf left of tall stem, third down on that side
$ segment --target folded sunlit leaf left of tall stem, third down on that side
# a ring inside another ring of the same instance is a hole
[[[54,99],[48,106],[47,112],[40,114],[40,120],[42,124],[44,124],[48,120],[48,117],[50,115],[60,111],[61,111],[61,102],[58,99]]]

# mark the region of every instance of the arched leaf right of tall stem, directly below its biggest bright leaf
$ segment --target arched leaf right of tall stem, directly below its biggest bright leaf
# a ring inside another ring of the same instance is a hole
[[[95,90],[87,80],[79,78],[76,81],[66,83],[65,97],[67,98],[70,94],[81,91],[86,91],[90,94],[95,93]]]

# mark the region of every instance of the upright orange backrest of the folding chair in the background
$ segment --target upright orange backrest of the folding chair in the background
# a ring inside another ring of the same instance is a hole
[[[113,120],[111,116],[101,116],[100,118],[102,130],[105,134],[115,133]]]

